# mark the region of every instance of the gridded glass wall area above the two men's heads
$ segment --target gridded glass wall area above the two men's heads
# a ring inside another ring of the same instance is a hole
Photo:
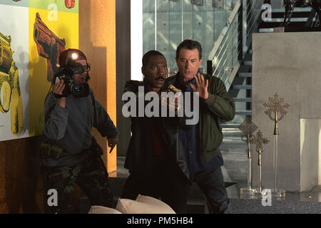
[[[178,44],[184,39],[193,39],[202,45],[200,67],[205,69],[208,55],[227,25],[236,1],[143,0],[143,53],[161,51],[168,67],[176,68]]]

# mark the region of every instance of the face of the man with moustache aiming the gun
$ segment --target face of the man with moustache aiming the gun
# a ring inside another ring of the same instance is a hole
[[[159,89],[165,83],[167,63],[164,56],[151,56],[147,66],[141,68],[146,83],[150,88]]]

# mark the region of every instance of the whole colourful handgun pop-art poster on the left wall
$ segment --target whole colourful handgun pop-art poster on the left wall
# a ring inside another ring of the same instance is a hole
[[[0,141],[41,135],[58,55],[78,48],[78,0],[0,0]]]

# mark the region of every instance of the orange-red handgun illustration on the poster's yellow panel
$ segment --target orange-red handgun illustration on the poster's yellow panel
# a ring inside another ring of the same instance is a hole
[[[54,74],[58,72],[58,58],[61,52],[65,50],[65,39],[58,38],[41,21],[39,13],[36,13],[36,22],[34,24],[34,41],[37,45],[38,54],[47,59],[47,80],[51,81]]]

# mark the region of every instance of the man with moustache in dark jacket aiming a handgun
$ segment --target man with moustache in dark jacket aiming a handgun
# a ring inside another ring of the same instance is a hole
[[[161,200],[172,207],[176,213],[185,212],[185,195],[190,182],[184,172],[188,172],[185,163],[178,164],[176,144],[181,118],[161,118],[146,113],[147,101],[140,106],[140,99],[147,93],[155,95],[161,103],[161,91],[164,91],[167,75],[166,59],[158,51],[148,51],[143,56],[143,81],[128,81],[123,94],[132,95],[123,108],[133,102],[138,106],[131,107],[131,141],[128,146],[125,167],[130,175],[126,180],[121,197],[136,199],[138,194],[161,197]],[[168,87],[168,86],[167,86]],[[153,93],[151,93],[153,92]],[[155,101],[155,100],[154,100]],[[136,111],[133,111],[136,109]],[[128,116],[128,115],[125,115]],[[176,139],[176,140],[175,140]],[[181,158],[180,160],[185,160]]]

